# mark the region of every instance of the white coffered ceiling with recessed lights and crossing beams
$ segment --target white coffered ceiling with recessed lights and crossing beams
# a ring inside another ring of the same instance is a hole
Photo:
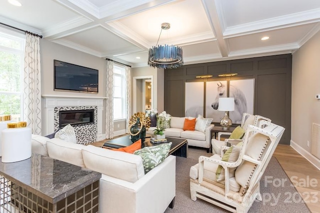
[[[0,1],[0,22],[132,67],[147,66],[163,22],[158,44],[181,46],[184,64],[292,53],[320,29],[320,0],[19,2]]]

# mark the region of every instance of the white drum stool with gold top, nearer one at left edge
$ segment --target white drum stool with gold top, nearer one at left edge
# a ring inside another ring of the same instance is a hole
[[[8,123],[1,134],[1,162],[13,163],[31,157],[31,129],[26,122]]]

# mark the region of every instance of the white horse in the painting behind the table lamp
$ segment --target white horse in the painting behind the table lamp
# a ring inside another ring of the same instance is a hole
[[[218,93],[215,97],[211,107],[214,110],[218,109],[219,106],[219,97],[226,97],[226,86],[219,82],[217,87]],[[246,98],[241,90],[230,85],[229,97],[234,97],[234,111],[229,112],[229,117],[232,120],[232,123],[240,124],[242,120],[242,114],[247,112]]]

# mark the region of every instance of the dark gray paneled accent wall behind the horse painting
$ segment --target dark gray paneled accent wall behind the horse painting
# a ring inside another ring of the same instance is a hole
[[[290,144],[291,54],[184,65],[164,70],[164,110],[184,116],[184,84],[187,81],[217,81],[254,78],[254,114],[265,116],[285,128],[280,144]],[[218,74],[237,73],[232,77]],[[198,79],[197,75],[213,75]]]

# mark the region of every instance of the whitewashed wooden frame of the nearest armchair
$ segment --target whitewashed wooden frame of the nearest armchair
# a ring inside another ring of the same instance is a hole
[[[190,193],[192,201],[196,201],[196,199],[199,198],[233,213],[246,213],[255,199],[260,201],[262,200],[259,192],[259,181],[284,132],[284,128],[267,121],[261,121],[260,127],[262,128],[248,125],[244,134],[243,146],[236,162],[230,163],[204,156],[199,157],[198,179],[190,179]],[[250,156],[245,155],[247,143],[250,137],[254,134],[262,134],[269,138],[267,146],[259,160],[252,159]],[[230,191],[228,173],[229,168],[238,167],[242,161],[248,161],[256,165],[256,168],[249,179],[246,193],[243,196],[239,192]],[[222,184],[220,183],[213,184],[203,180],[204,162],[218,164],[224,168],[224,189],[221,187]]]

